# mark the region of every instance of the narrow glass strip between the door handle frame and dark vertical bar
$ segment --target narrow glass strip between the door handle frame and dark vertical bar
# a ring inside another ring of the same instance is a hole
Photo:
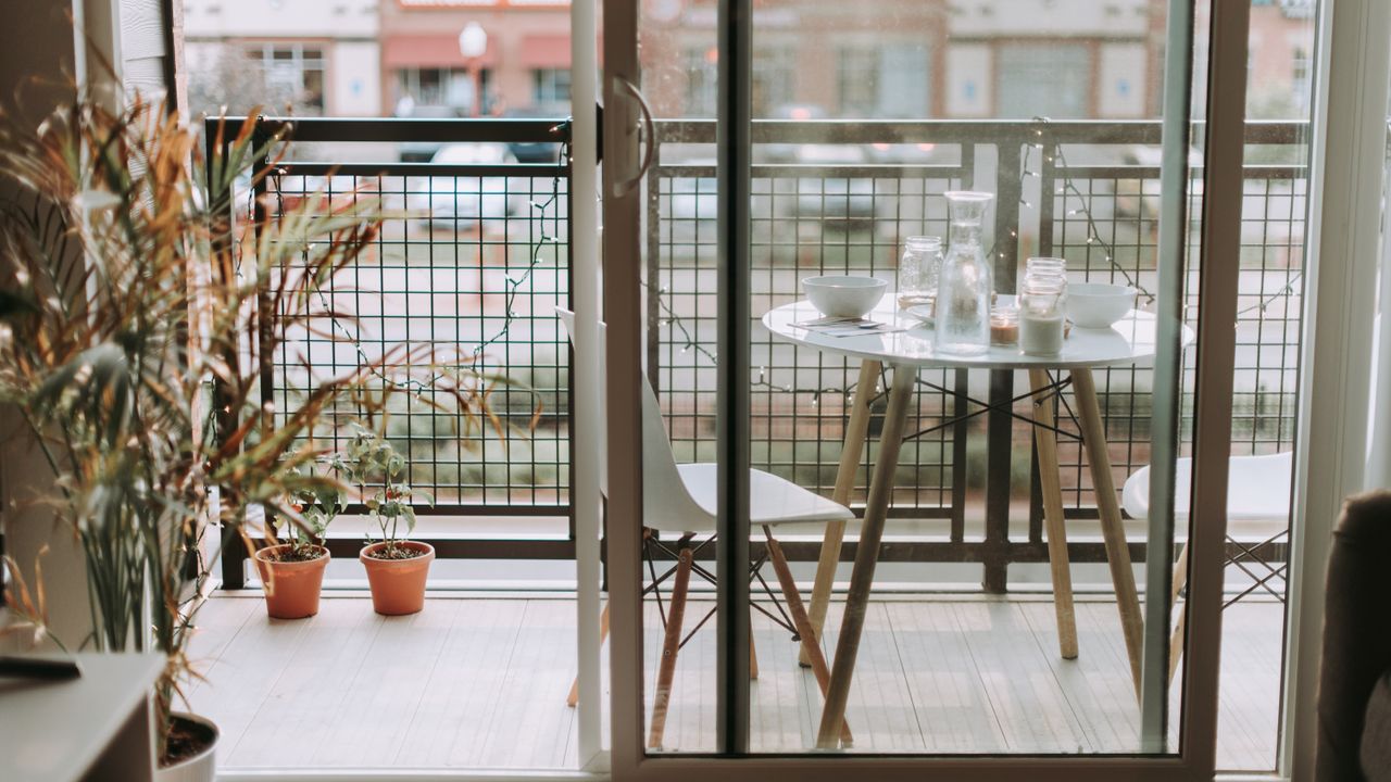
[[[718,749],[715,14],[714,3],[670,0],[647,0],[640,13],[641,90],[655,132],[652,164],[637,185],[650,753]]]

